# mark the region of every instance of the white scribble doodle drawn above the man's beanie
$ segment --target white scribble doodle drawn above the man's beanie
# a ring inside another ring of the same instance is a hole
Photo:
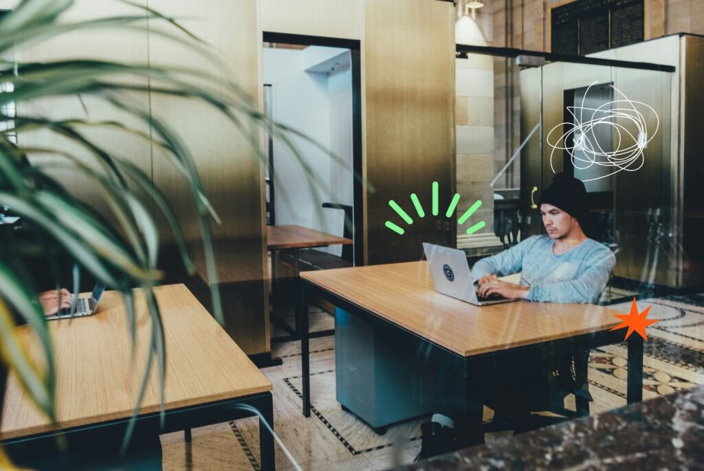
[[[615,169],[606,175],[590,178],[584,182],[609,177],[622,170],[628,172],[639,170],[645,162],[643,149],[646,149],[648,142],[653,140],[660,128],[658,113],[655,113],[651,106],[641,101],[629,100],[613,85],[610,87],[614,89],[617,96],[622,96],[622,99],[604,103],[598,108],[585,108],[584,99],[589,94],[589,89],[595,84],[598,82],[587,87],[582,98],[582,106],[567,106],[567,111],[574,117],[574,123],[560,123],[553,127],[546,139],[548,145],[553,148],[550,153],[550,168],[553,173],[555,173],[553,166],[555,151],[567,151],[575,169],[584,170],[592,165]],[[643,113],[649,111],[655,116],[655,130],[653,132],[648,132],[646,118],[636,106],[642,107]],[[600,126],[611,128],[612,149],[602,149],[596,139],[596,132]],[[567,130],[567,132],[553,140],[561,130]],[[571,145],[570,142],[572,142]],[[558,157],[562,157],[561,152],[558,152]]]

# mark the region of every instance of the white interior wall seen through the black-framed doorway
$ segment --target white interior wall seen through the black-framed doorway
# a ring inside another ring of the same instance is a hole
[[[310,51],[308,51],[310,53]],[[309,55],[309,54],[308,54]],[[305,164],[325,189],[314,194],[303,165],[281,142],[274,143],[275,213],[277,224],[296,224],[342,235],[342,211],[321,204],[352,204],[352,89],[351,69],[343,65],[332,73],[307,73],[303,51],[263,51],[263,81],[272,85],[273,118],[300,130],[344,159],[333,159],[313,144],[294,139]],[[340,246],[321,249],[339,255]]]

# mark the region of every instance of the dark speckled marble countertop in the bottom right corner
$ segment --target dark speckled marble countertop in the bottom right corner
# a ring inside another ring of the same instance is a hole
[[[404,470],[704,469],[704,387],[563,422]]]

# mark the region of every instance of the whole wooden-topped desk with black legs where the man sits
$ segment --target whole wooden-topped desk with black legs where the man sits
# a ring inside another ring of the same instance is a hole
[[[303,414],[310,414],[308,296],[321,296],[467,377],[467,413],[476,410],[477,372],[496,360],[533,353],[570,353],[623,341],[617,311],[589,304],[515,301],[472,306],[435,291],[427,262],[372,265],[301,274],[296,315],[301,323]],[[629,337],[628,402],[641,401],[643,339]],[[473,417],[472,420],[476,420]]]

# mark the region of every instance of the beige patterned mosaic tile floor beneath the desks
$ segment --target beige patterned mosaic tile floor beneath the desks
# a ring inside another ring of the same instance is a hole
[[[704,384],[704,296],[667,296],[639,301],[652,306],[648,318],[660,322],[648,328],[643,397],[668,394]],[[627,312],[629,302],[612,306]],[[290,321],[290,318],[288,318]],[[334,327],[332,315],[311,309],[311,330]],[[282,333],[282,332],[279,332]],[[277,334],[275,332],[275,334]],[[301,415],[301,361],[296,342],[275,345],[273,356],[283,365],[263,370],[274,386],[275,430],[304,470],[382,470],[410,463],[420,450],[421,420],[389,428],[380,437],[335,400],[334,337],[310,341],[313,413]],[[626,403],[625,345],[591,352],[589,383],[591,412]],[[569,403],[569,401],[567,401]],[[490,411],[486,410],[486,417]],[[510,437],[511,432],[501,434]],[[487,435],[487,441],[498,439]],[[186,444],[180,433],[162,437],[165,470],[258,470],[258,423],[254,419],[203,427]],[[294,469],[277,447],[277,469]]]

